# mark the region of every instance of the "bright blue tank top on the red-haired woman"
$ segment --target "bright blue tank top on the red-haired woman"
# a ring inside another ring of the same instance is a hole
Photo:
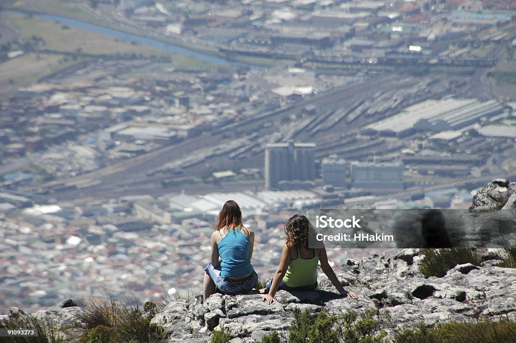
[[[220,276],[233,277],[250,274],[254,271],[249,259],[251,242],[240,230],[229,230],[217,246],[220,263]]]

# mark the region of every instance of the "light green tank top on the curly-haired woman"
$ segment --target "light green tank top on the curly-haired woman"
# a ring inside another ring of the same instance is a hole
[[[315,255],[315,249],[314,249]],[[297,249],[297,258],[288,265],[283,282],[288,287],[310,286],[317,282],[317,262],[319,256],[301,258]]]

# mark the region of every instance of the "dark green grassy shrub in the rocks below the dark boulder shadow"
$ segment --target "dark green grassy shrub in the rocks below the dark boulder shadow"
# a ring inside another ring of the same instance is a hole
[[[422,249],[420,271],[425,277],[446,275],[451,268],[464,263],[480,266],[480,255],[468,248]]]

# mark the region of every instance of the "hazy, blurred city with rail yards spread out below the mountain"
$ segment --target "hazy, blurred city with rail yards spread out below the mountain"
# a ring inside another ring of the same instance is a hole
[[[197,291],[230,199],[264,280],[295,213],[468,208],[516,178],[515,10],[2,2],[0,312]]]

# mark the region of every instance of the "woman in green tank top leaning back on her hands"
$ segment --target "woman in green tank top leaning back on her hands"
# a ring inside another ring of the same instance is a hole
[[[274,302],[278,289],[314,290],[317,288],[317,262],[322,271],[342,295],[358,298],[353,292],[346,291],[338,281],[328,262],[326,248],[308,248],[308,240],[315,235],[315,230],[307,217],[295,215],[285,223],[286,240],[281,253],[280,264],[266,288],[263,298],[267,304]]]

